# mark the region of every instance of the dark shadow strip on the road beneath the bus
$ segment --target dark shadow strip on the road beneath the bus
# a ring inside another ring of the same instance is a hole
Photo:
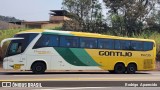
[[[0,75],[55,75],[55,74],[108,74],[118,75],[109,72],[45,72],[44,74],[33,74],[32,72],[0,72]],[[121,75],[137,75],[137,74],[150,74],[145,72],[137,72],[135,74],[121,74]]]

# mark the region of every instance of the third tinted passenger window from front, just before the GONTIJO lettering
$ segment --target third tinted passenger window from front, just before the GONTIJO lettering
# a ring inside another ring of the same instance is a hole
[[[80,38],[81,48],[97,48],[97,39],[94,38]]]

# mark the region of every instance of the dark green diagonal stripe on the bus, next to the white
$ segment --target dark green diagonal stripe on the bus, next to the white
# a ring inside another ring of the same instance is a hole
[[[54,49],[66,60],[68,63],[75,66],[87,66],[81,62],[69,48],[54,47]]]

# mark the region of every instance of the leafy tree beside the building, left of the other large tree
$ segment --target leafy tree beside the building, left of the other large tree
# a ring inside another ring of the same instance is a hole
[[[62,4],[63,9],[69,12],[68,16],[71,18],[64,23],[66,30],[101,31],[103,15],[98,0],[63,0]]]

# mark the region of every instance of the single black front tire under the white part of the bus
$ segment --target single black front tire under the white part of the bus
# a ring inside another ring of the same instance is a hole
[[[46,65],[43,62],[36,62],[32,65],[31,69],[35,74],[43,74],[46,70]]]

